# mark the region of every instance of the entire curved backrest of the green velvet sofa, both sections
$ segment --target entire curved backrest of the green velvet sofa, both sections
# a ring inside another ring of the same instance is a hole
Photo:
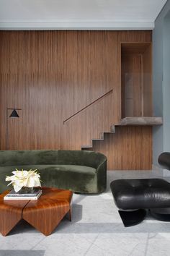
[[[70,164],[97,168],[105,155],[86,150],[1,150],[0,166]]]

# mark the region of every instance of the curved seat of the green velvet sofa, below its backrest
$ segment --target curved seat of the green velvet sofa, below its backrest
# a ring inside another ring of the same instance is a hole
[[[37,169],[40,173],[42,186],[58,187],[70,189],[79,192],[92,192],[94,189],[94,180],[96,179],[96,169],[88,166],[75,166],[75,165],[24,165],[24,166],[3,166],[0,167],[0,187],[1,192],[8,188],[4,180],[6,175],[11,176],[15,168],[21,170]],[[2,181],[2,182],[1,182]],[[73,187],[73,184],[75,187]]]

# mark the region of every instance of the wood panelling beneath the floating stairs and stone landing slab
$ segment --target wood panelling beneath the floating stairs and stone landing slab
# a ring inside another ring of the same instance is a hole
[[[94,141],[92,150],[107,155],[109,170],[151,170],[152,127],[115,127]]]

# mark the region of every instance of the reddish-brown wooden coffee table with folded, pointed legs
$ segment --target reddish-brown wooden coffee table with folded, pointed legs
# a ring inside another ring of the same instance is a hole
[[[42,187],[38,200],[4,200],[9,191],[0,195],[0,232],[3,236],[24,219],[38,231],[48,236],[68,213],[71,221],[71,198],[69,190]]]

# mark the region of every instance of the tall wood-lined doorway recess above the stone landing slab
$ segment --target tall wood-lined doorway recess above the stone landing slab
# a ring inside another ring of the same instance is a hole
[[[151,43],[121,43],[122,119],[152,116]]]

